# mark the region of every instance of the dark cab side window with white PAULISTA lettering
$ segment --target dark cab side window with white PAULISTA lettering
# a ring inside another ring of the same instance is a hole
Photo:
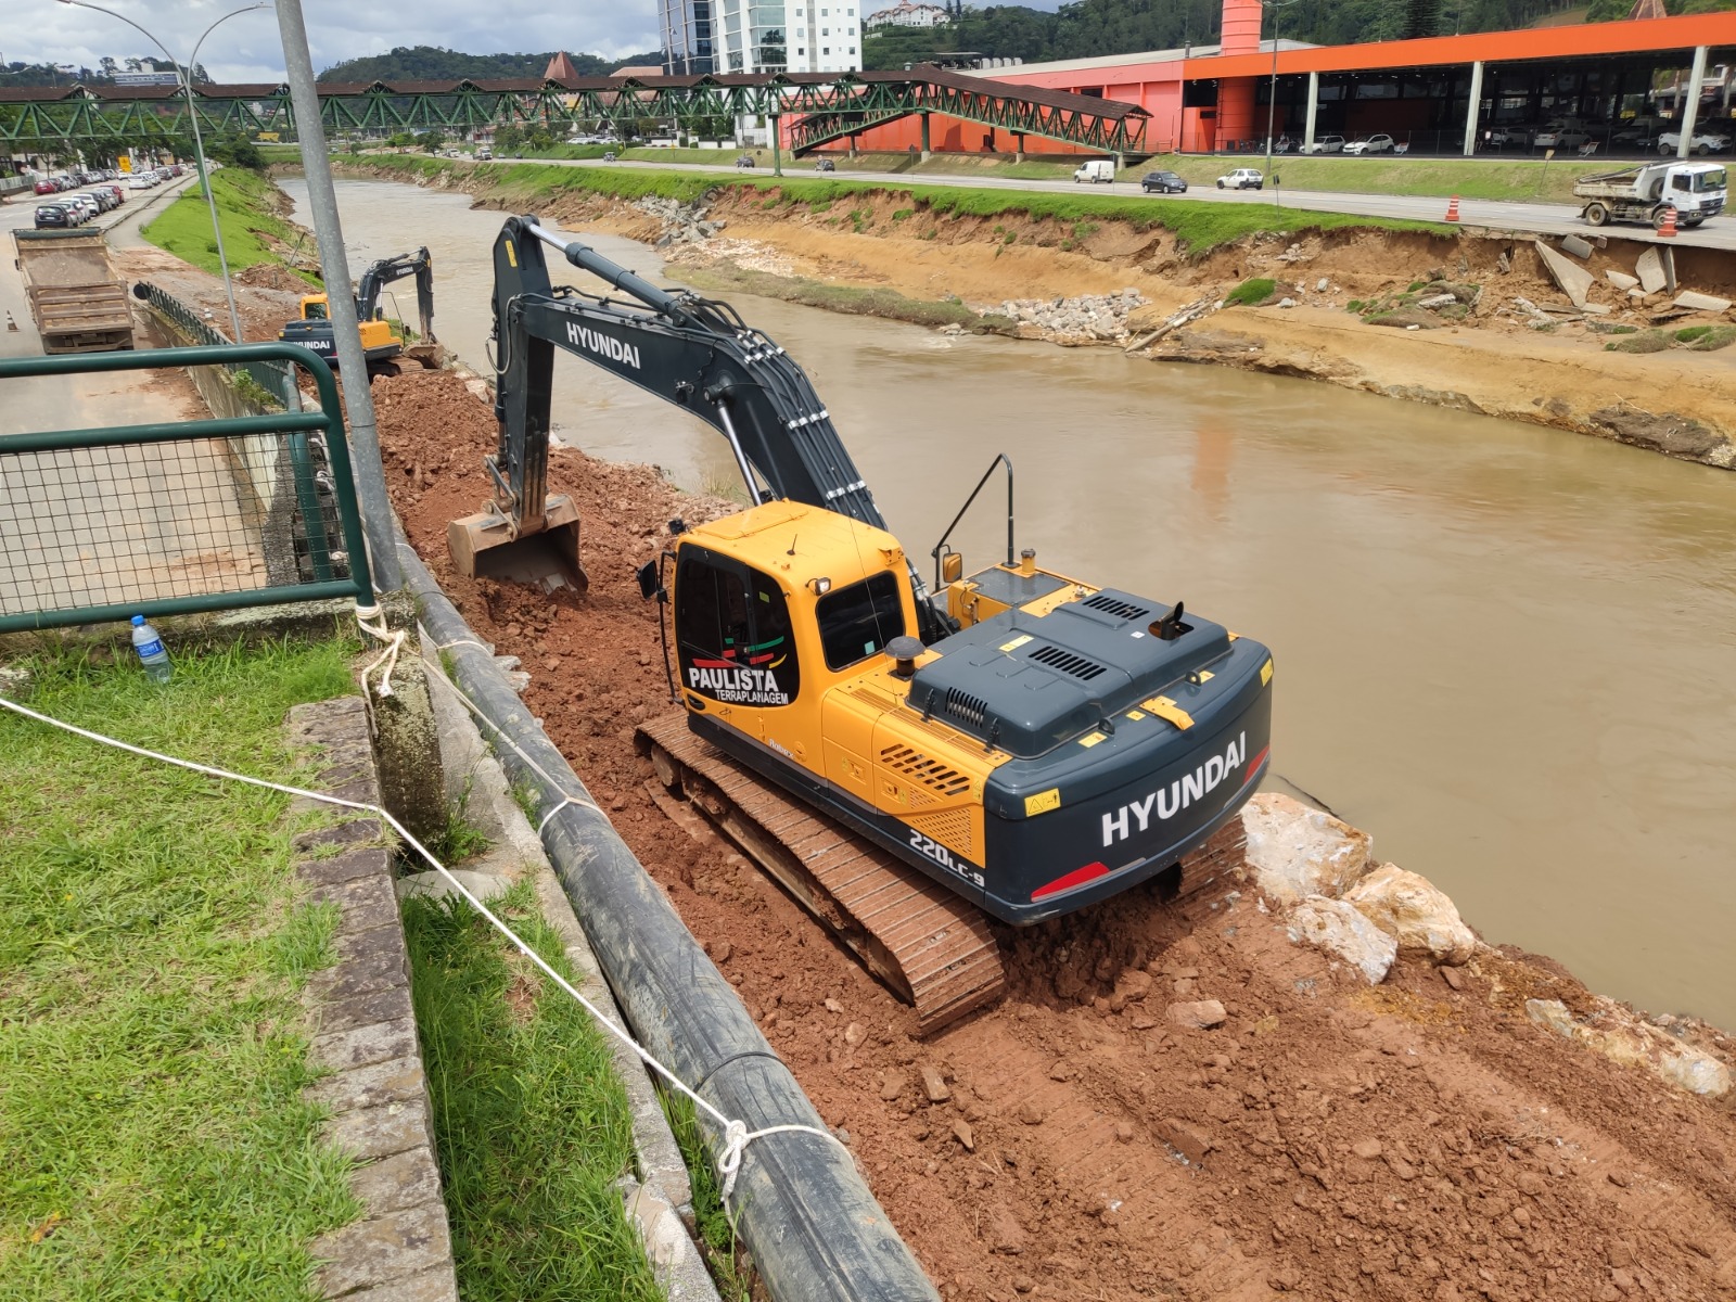
[[[790,705],[800,665],[774,580],[740,561],[682,549],[675,568],[681,686],[731,705]]]

